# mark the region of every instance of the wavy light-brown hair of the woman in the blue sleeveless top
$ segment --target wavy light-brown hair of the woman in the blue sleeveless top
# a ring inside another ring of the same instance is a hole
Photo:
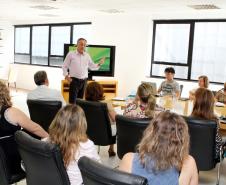
[[[189,152],[188,126],[185,120],[168,111],[159,113],[144,131],[138,145],[141,164],[148,169],[150,157],[154,161],[152,170],[175,167],[181,170],[182,162]]]

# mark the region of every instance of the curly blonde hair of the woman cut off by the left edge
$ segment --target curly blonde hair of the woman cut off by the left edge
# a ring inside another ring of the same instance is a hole
[[[8,87],[5,85],[5,83],[0,81],[0,108],[3,106],[11,107],[12,102]]]

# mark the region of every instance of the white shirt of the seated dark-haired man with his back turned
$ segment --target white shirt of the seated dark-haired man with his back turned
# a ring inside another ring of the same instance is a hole
[[[61,101],[62,106],[66,105],[66,102],[60,93],[55,89],[50,89],[46,85],[39,85],[33,91],[27,94],[28,100],[46,100],[46,101]]]

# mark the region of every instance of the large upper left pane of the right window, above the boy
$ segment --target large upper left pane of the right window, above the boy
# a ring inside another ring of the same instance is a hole
[[[189,24],[158,24],[155,37],[155,61],[187,63]]]

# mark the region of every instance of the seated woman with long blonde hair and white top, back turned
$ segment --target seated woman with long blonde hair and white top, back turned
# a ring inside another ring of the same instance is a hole
[[[49,128],[46,140],[57,144],[63,156],[71,185],[82,184],[78,160],[82,156],[100,161],[96,147],[86,135],[86,118],[83,110],[74,104],[61,108]]]

